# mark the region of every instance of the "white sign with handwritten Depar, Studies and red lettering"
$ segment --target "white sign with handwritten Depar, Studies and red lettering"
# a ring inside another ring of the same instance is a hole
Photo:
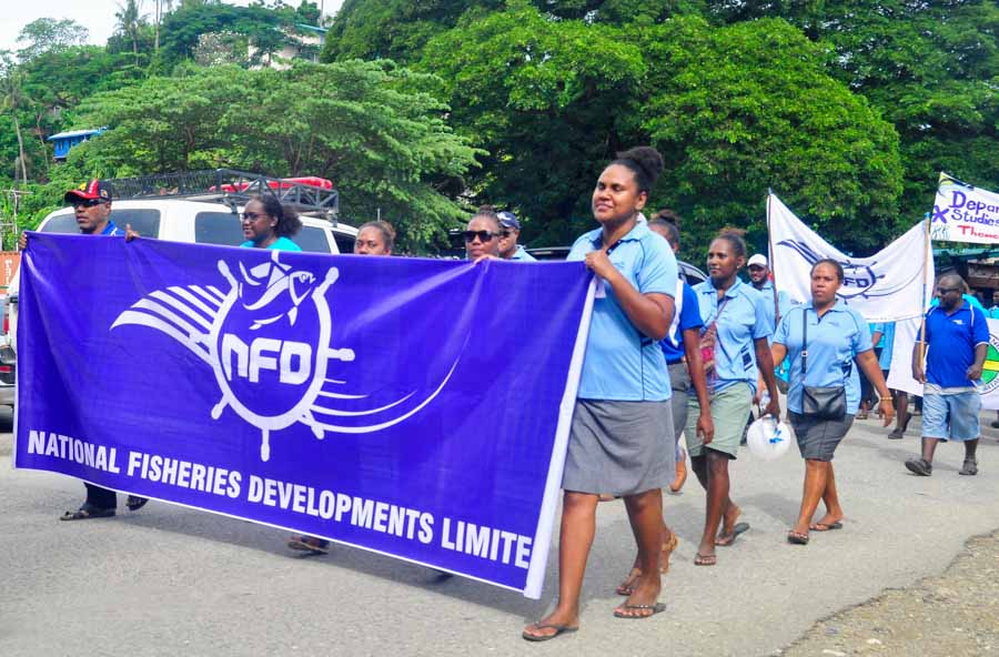
[[[999,194],[940,173],[930,236],[947,242],[999,243]]]

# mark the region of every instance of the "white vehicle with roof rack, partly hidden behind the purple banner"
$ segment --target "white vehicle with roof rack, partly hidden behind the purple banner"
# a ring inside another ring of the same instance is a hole
[[[118,201],[111,205],[111,220],[124,229],[132,226],[142,237],[190,244],[239,245],[245,242],[240,213],[242,204],[151,198]],[[357,229],[343,223],[302,215],[302,230],[293,236],[302,251],[312,253],[353,253]],[[41,233],[79,234],[72,208],[49,214],[38,226]],[[9,347],[0,347],[0,405],[14,405],[17,366],[18,285],[20,270],[11,281],[7,297]],[[7,374],[8,376],[4,376]]]

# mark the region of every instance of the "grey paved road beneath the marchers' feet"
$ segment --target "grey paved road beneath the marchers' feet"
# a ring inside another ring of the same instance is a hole
[[[797,454],[734,464],[734,498],[753,528],[714,568],[692,563],[699,487],[669,496],[680,545],[668,611],[648,620],[610,615],[632,538],[623,505],[602,505],[582,630],[543,645],[519,631],[551,604],[554,554],[534,602],[352,548],[296,556],[283,532],[163,503],[59,523],[82,485],[11,469],[11,436],[0,434],[0,655],[769,655],[820,618],[941,573],[970,536],[999,527],[995,435],[979,448],[979,476],[958,476],[961,448],[941,445],[934,476],[919,478],[901,465],[914,429],[888,441],[874,422],[856,423],[836,458],[846,527],[806,547],[784,538],[799,503]]]

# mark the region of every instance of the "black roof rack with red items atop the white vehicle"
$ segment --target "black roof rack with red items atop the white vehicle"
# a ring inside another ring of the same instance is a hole
[[[209,169],[181,173],[158,173],[115,178],[110,183],[112,199],[183,199],[224,203],[234,209],[255,195],[273,194],[299,213],[336,223],[340,194],[333,183],[321,178],[271,178],[233,169]]]

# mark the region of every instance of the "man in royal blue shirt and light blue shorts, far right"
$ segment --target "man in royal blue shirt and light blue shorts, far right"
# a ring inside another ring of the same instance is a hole
[[[906,461],[906,467],[925,477],[932,474],[939,441],[965,443],[960,474],[978,474],[975,451],[981,397],[977,384],[989,348],[989,327],[985,313],[961,297],[963,292],[965,281],[957,274],[940,277],[940,303],[926,314],[926,327],[912,350],[912,377],[924,384],[922,456]]]

